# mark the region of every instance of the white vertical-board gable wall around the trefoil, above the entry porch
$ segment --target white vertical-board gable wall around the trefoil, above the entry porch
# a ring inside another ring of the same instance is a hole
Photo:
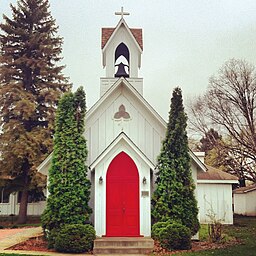
[[[114,120],[114,115],[124,105],[130,120]],[[164,127],[152,117],[145,106],[125,86],[120,86],[102,103],[86,121],[85,137],[88,143],[88,163],[92,163],[123,131],[153,162],[160,152]]]

